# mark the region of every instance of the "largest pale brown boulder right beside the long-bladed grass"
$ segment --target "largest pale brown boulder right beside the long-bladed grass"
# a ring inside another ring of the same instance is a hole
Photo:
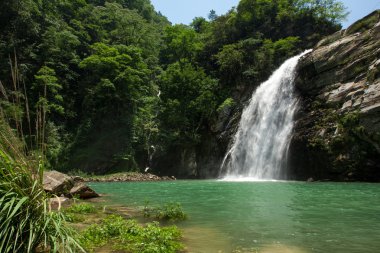
[[[67,194],[73,186],[74,180],[66,174],[55,170],[44,172],[43,187],[49,193]]]

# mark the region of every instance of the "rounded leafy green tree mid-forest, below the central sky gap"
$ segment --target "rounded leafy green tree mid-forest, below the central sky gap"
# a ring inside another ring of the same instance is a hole
[[[168,66],[159,78],[161,126],[169,142],[197,143],[198,130],[216,108],[217,80],[188,62]]]

